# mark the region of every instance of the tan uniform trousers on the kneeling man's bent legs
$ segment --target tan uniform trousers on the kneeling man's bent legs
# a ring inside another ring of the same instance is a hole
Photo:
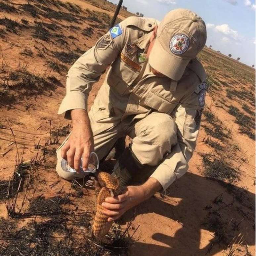
[[[97,123],[89,112],[92,131],[98,129]],[[117,125],[94,135],[95,152],[99,160],[103,159],[114,146],[115,142],[126,135],[132,140],[132,151],[142,164],[157,166],[164,156],[171,151],[171,147],[177,143],[176,124],[171,116],[165,113],[152,112],[143,119],[135,120],[128,124],[125,120]],[[68,135],[68,137],[70,134]],[[72,180],[74,177],[82,178],[84,174],[66,172],[61,167],[61,148],[68,140],[57,149],[56,171],[60,177],[66,180]]]

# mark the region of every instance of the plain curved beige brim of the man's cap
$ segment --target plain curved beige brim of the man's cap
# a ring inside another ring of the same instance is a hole
[[[167,77],[178,81],[181,79],[189,62],[189,59],[175,57],[174,55],[166,52],[158,40],[155,39],[154,45],[149,54],[149,65],[152,68]]]

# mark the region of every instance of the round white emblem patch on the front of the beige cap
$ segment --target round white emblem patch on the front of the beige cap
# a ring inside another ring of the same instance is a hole
[[[184,34],[177,34],[170,41],[170,50],[172,53],[180,55],[189,48],[189,38]]]

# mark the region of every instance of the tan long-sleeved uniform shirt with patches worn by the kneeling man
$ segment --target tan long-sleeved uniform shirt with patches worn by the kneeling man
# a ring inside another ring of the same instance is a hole
[[[98,109],[103,110],[100,115],[104,119],[97,133],[120,120],[132,122],[152,111],[172,115],[178,128],[179,143],[151,175],[165,190],[188,170],[204,106],[206,75],[197,60],[191,61],[179,81],[156,77],[150,71],[148,61],[143,57],[157,23],[154,19],[129,17],[118,25],[121,34],[113,36],[108,31],[101,37],[69,69],[67,94],[58,114],[65,112],[65,118],[70,119],[67,110],[87,109],[92,85],[110,65],[94,102]],[[104,87],[110,87],[109,95],[104,94]],[[97,116],[98,113],[94,114]]]

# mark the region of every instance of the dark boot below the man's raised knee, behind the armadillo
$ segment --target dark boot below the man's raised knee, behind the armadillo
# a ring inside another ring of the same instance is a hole
[[[114,166],[112,176],[117,177],[120,180],[121,186],[127,186],[130,184],[133,176],[138,170],[144,167],[143,164],[138,160],[132,149],[129,147],[125,148],[117,163]]]

